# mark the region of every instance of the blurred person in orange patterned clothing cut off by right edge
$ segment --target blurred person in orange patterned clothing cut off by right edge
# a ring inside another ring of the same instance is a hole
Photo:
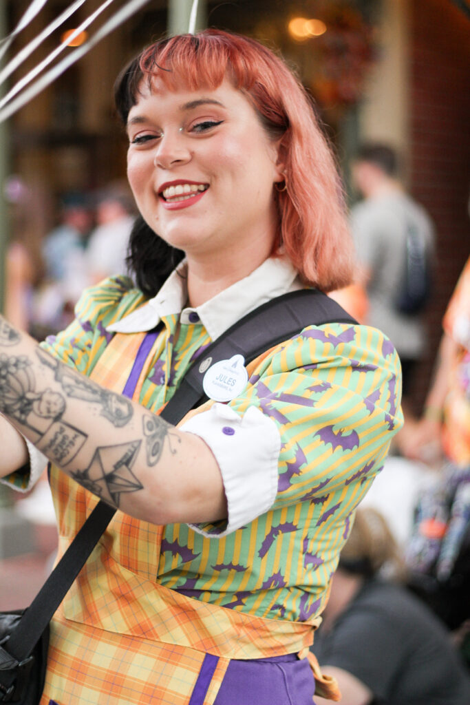
[[[420,498],[407,561],[410,585],[460,639],[470,664],[470,257],[443,318],[435,376],[409,458],[440,453],[440,481]]]

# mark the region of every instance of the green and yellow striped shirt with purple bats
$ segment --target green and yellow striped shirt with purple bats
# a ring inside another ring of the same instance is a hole
[[[45,348],[89,375],[111,340],[109,326],[144,303],[129,279],[109,279],[85,293],[77,319]],[[211,342],[202,321],[189,319],[175,340],[179,319],[161,317],[140,389],[140,403],[153,412]],[[124,355],[120,364],[132,360]],[[229,534],[226,522],[149,530],[121,515],[110,529],[111,558],[145,580],[216,606],[268,619],[313,619],[326,601],[354,508],[402,423],[399,404],[400,363],[380,331],[334,323],[299,331],[249,366],[247,387],[226,405],[240,419],[250,409],[261,412],[278,429],[270,508]],[[199,411],[213,406],[209,401]],[[69,515],[70,493],[80,503],[87,491],[63,477],[58,487],[59,525],[69,534],[78,523]]]

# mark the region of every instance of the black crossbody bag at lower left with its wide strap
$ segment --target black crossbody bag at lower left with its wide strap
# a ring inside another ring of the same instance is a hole
[[[315,289],[302,289],[268,301],[204,350],[187,370],[161,417],[177,424],[206,400],[202,381],[210,364],[237,354],[245,357],[245,363],[251,362],[307,326],[333,321],[356,323],[333,299]],[[99,501],[30,607],[0,613],[0,703],[39,703],[47,669],[49,622],[114,513],[116,509]]]

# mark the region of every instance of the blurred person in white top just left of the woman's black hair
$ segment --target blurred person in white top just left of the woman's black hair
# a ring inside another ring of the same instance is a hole
[[[126,274],[129,237],[135,220],[135,204],[128,187],[111,183],[97,195],[97,227],[90,235],[87,270],[91,284],[107,276]]]

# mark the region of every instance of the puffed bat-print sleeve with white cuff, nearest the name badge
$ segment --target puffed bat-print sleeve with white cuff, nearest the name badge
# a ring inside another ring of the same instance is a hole
[[[400,397],[400,361],[383,333],[304,329],[250,367],[245,392],[225,410],[183,424],[213,450],[228,501],[226,522],[193,528],[225,536],[268,509],[324,503],[370,482],[402,425]]]

